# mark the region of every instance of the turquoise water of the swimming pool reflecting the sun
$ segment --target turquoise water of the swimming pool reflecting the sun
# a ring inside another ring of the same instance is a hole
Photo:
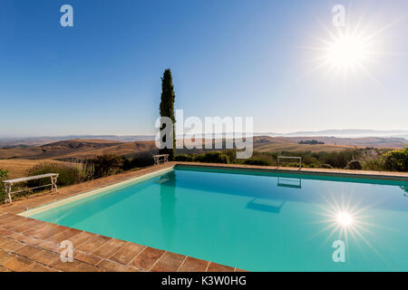
[[[407,195],[406,181],[177,167],[31,218],[249,271],[408,271]]]

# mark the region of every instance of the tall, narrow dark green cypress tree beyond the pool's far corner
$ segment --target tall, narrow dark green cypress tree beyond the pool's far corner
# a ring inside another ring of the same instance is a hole
[[[176,99],[176,95],[174,93],[173,87],[173,79],[171,77],[170,69],[166,69],[163,73],[163,77],[161,78],[161,101],[160,101],[160,116],[161,117],[169,117],[171,121],[173,121],[173,148],[164,148],[159,150],[160,154],[169,154],[169,160],[173,160],[174,151],[176,148],[176,134],[174,130],[174,124],[176,122],[176,118],[174,117],[174,101]],[[162,130],[160,128],[160,130]],[[162,140],[166,141],[166,137],[161,135]]]

